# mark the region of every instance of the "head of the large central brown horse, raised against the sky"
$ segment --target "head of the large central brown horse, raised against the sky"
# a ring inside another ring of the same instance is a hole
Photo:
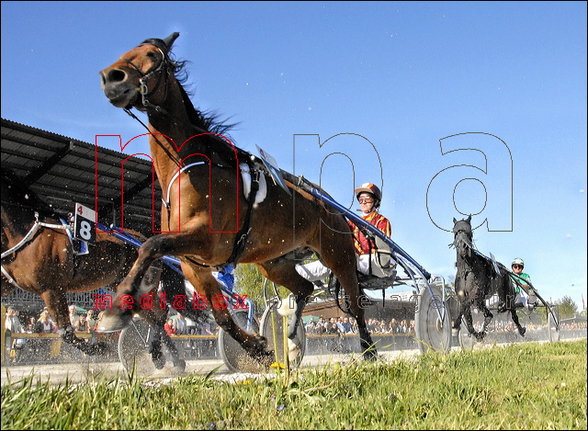
[[[118,108],[143,111],[161,105],[178,67],[169,53],[179,35],[147,39],[102,70],[102,89],[110,103]]]

